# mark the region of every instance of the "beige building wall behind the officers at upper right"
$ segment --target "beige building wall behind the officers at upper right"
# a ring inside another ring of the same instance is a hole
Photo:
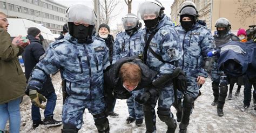
[[[236,34],[239,28],[247,29],[249,25],[255,25],[256,0],[190,0],[197,6],[200,20],[204,20],[207,28],[212,33],[216,31],[215,21],[219,18],[227,18],[232,25],[232,32]],[[171,19],[180,24],[178,13],[180,4],[185,0],[174,0],[171,5]]]

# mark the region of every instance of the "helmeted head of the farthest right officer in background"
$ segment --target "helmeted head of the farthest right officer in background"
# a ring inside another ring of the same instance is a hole
[[[231,29],[230,21],[226,18],[219,18],[215,23],[215,27],[219,36],[225,36]]]

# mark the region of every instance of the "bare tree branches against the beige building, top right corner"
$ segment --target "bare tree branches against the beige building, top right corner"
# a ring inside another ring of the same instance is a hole
[[[238,0],[235,4],[239,4],[235,17],[241,25],[245,25],[245,20],[250,17],[255,17],[256,14],[256,3],[248,0]]]

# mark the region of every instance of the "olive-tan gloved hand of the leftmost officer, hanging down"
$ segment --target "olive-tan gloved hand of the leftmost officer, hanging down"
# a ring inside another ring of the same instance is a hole
[[[36,90],[30,90],[29,97],[33,105],[39,108],[45,109],[45,106],[41,105],[41,102],[40,102],[40,101],[44,101],[44,102],[46,101],[46,99],[42,94],[38,93]]]

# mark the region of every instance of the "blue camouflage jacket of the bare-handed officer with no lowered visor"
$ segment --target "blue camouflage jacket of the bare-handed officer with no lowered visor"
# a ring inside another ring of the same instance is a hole
[[[196,23],[190,31],[185,31],[181,25],[174,27],[182,42],[184,50],[183,60],[179,61],[186,76],[207,78],[208,74],[203,69],[207,53],[215,47],[214,38],[211,32],[202,25]]]

